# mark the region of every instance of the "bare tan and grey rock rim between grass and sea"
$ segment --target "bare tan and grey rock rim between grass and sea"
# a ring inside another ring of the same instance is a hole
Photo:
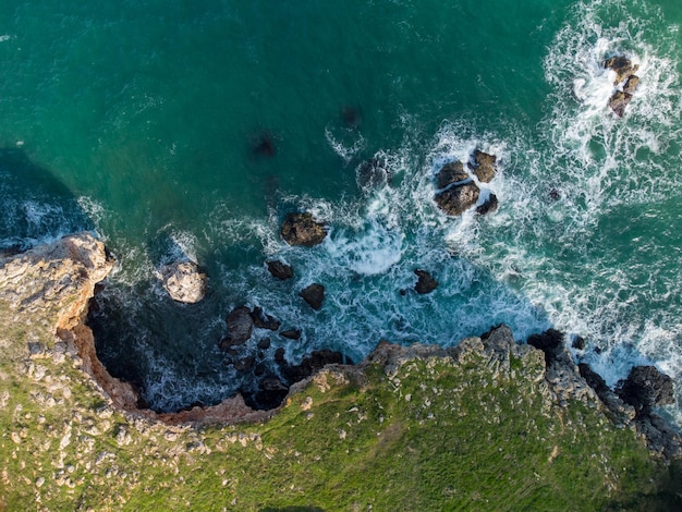
[[[57,358],[60,354],[64,359],[63,354],[71,354],[110,404],[133,418],[198,426],[258,422],[277,414],[283,405],[269,411],[254,410],[239,394],[218,405],[195,406],[176,413],[159,414],[141,407],[136,390],[130,383],[113,378],[99,362],[93,333],[84,324],[95,287],[107,277],[112,266],[103,244],[88,233],[2,258],[0,301],[11,304],[17,321],[28,314],[47,319],[56,336],[51,345],[29,342],[28,346],[11,346],[5,351],[17,359],[36,356]],[[247,316],[252,315],[253,312],[247,313]],[[271,388],[281,394],[282,404],[285,404],[324,367],[343,378],[362,381],[367,368],[377,364],[391,375],[409,361],[437,357],[463,364],[473,357],[472,354],[487,361],[486,367],[494,374],[504,371],[513,377],[517,371],[534,373],[537,386],[528,392],[539,393],[556,407],[567,407],[572,402],[596,407],[617,426],[640,432],[651,451],[666,458],[680,452],[679,432],[655,413],[656,406],[672,401],[669,377],[654,367],[635,367],[629,379],[613,391],[589,367],[575,364],[563,334],[553,330],[532,337],[526,344],[514,341],[510,329],[499,326],[480,338],[462,340],[454,349],[447,350],[421,344],[401,346],[382,341],[357,365],[340,364],[333,353],[313,354],[297,367],[288,369],[289,378],[295,382],[291,389],[282,388],[276,381],[271,382]],[[515,361],[523,361],[524,367],[516,367]]]

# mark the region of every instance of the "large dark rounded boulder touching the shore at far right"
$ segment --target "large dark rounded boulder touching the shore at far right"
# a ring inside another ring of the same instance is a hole
[[[657,405],[674,403],[672,379],[655,366],[635,366],[625,380],[618,382],[616,392],[635,407],[637,415],[649,414]]]

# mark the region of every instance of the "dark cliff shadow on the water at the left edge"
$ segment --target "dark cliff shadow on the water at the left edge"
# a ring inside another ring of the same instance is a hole
[[[0,149],[0,253],[93,230],[77,198],[19,148]]]

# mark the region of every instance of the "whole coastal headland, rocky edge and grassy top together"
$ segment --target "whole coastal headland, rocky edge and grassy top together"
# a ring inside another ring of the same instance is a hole
[[[141,409],[84,324],[112,266],[89,234],[0,260],[0,510],[679,503],[675,432],[504,326],[449,350],[380,342],[272,411]]]

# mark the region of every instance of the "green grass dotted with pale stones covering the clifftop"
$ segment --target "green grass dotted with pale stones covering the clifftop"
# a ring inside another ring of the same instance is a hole
[[[0,304],[0,318],[8,318]],[[34,326],[11,333],[49,343]],[[42,337],[42,338],[40,338]],[[72,361],[0,355],[0,510],[670,510],[680,465],[526,361],[413,361],[312,382],[272,419],[172,429],[106,406]],[[34,365],[33,374],[26,368]],[[42,377],[35,378],[35,365]],[[346,376],[348,377],[348,376]],[[64,388],[70,391],[64,394]],[[38,486],[38,483],[40,486]]]

